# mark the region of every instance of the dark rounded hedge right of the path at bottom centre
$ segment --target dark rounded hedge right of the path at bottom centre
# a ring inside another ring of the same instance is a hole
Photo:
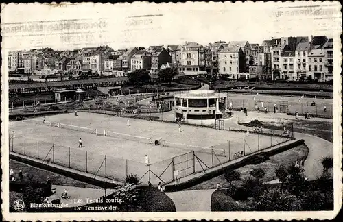
[[[226,195],[225,190],[215,190],[211,195],[211,211],[242,211],[236,201]]]

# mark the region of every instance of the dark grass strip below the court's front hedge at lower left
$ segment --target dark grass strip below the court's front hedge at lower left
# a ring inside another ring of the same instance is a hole
[[[47,182],[47,178],[49,177],[51,183],[53,185],[62,185],[62,186],[76,186],[76,187],[83,187],[83,188],[99,188],[97,186],[93,186],[91,184],[86,184],[84,182],[80,182],[78,180],[71,179],[70,177],[65,177],[63,175],[59,175],[57,173],[52,173],[50,171],[45,171],[43,169],[39,169],[37,167],[32,167],[28,164],[24,164],[22,162],[18,162],[15,160],[10,160],[10,169],[14,170],[14,175],[17,175],[19,170],[23,172],[23,180],[28,180],[27,175],[31,173],[34,175],[34,180],[36,182],[45,183]]]

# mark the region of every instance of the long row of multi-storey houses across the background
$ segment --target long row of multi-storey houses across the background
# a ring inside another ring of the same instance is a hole
[[[108,46],[74,51],[50,48],[11,51],[10,71],[18,73],[125,76],[135,69],[151,73],[174,66],[185,75],[222,75],[233,79],[314,78],[333,79],[333,39],[327,36],[296,36],[264,40],[218,41],[208,45],[130,47],[113,50]]]

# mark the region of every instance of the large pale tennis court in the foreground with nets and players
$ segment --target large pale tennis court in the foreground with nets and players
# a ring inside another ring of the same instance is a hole
[[[45,123],[43,117],[12,121],[10,134],[14,131],[15,138],[10,140],[10,151],[119,181],[130,173],[144,175],[143,183],[157,184],[172,181],[175,169],[182,177],[228,162],[228,153],[243,147],[249,154],[279,143],[259,135],[261,147],[257,147],[254,134],[244,139],[243,132],[189,125],[182,125],[179,132],[178,125],[171,123],[141,119],[129,119],[129,123],[125,118],[87,112],[46,116]],[[78,147],[79,138],[84,147]],[[162,144],[154,145],[155,140]],[[149,173],[145,155],[150,159]]]

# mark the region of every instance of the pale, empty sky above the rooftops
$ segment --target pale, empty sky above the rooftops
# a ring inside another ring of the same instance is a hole
[[[56,50],[108,45],[113,49],[184,42],[339,36],[337,2],[298,3],[40,3],[1,5],[3,47]]]

